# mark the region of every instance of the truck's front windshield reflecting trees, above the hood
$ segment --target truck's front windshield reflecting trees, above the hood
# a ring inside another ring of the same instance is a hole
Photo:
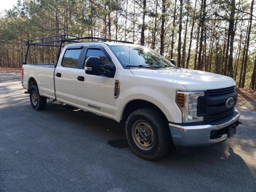
[[[125,69],[129,68],[129,66],[148,66],[156,68],[174,67],[174,65],[171,62],[169,62],[166,58],[164,58],[162,55],[146,47],[129,47],[124,45],[109,45],[109,47]]]

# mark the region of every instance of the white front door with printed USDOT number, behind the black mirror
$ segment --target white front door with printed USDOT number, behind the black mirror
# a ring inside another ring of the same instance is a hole
[[[86,74],[84,67],[85,60],[90,56],[100,58],[101,74]],[[84,61],[80,69],[78,69],[77,82],[77,104],[78,108],[94,112],[112,118],[114,115],[114,85],[115,78],[104,75],[106,71],[104,65],[114,65],[110,56],[101,46],[88,46],[84,51]]]

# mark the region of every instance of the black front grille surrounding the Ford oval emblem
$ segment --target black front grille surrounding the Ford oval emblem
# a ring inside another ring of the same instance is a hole
[[[226,100],[230,97],[234,97],[235,106],[237,98],[235,86],[206,90],[204,96],[198,98],[198,116],[203,116],[205,122],[212,122],[231,115],[234,112],[234,106],[226,107]]]

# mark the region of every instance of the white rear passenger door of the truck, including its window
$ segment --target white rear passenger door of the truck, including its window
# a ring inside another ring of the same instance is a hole
[[[54,73],[56,99],[72,106],[77,106],[77,72],[83,50],[84,46],[66,47]]]

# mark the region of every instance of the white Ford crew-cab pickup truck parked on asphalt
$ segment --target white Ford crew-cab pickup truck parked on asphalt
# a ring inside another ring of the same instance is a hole
[[[49,98],[123,122],[130,147],[148,160],[173,145],[222,142],[240,124],[232,78],[178,68],[135,44],[67,44],[57,64],[24,64],[22,86],[35,110]]]

